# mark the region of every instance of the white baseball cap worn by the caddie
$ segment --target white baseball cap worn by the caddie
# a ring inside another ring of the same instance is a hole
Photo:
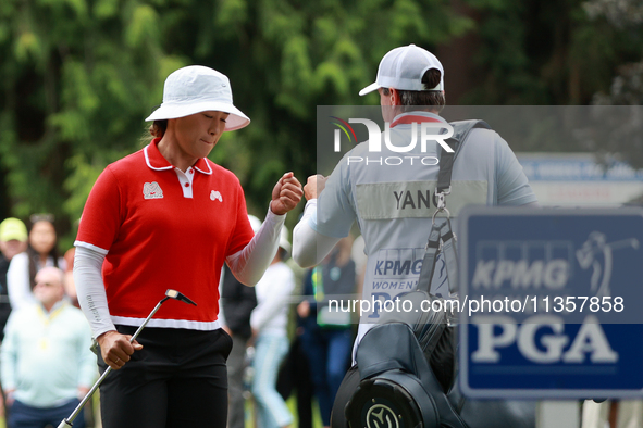
[[[428,70],[440,70],[440,84],[426,89],[422,85],[422,76]],[[444,90],[444,68],[435,55],[415,45],[403,46],[388,51],[380,61],[378,78],[359,91],[360,96],[380,88],[399,90]]]

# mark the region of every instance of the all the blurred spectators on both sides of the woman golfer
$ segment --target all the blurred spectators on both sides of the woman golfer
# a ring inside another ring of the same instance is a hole
[[[261,221],[249,217],[257,230]],[[57,427],[98,377],[72,275],[74,248],[61,252],[53,216],[34,214],[26,225],[14,217],[0,223],[0,415],[11,428]],[[343,239],[310,269],[289,253],[284,228],[256,287],[242,285],[227,266],[222,272],[220,317],[233,338],[230,428],[330,426],[350,366],[357,317],[330,311],[329,300],[359,295],[363,240]],[[97,400],[74,427],[100,426]]]

